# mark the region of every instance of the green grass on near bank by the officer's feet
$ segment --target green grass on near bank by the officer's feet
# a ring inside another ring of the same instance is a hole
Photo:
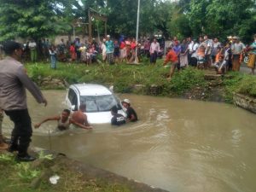
[[[0,170],[1,192],[132,191],[124,184],[109,183],[100,178],[88,179],[84,176],[86,173],[77,172],[60,163],[60,159],[44,153],[39,154],[37,161],[23,163],[17,163],[13,154],[0,153]],[[54,175],[60,177],[56,184],[49,182],[49,177]]]

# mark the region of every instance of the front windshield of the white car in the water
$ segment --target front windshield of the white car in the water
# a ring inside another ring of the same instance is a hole
[[[80,96],[80,103],[86,104],[86,112],[110,111],[113,106],[121,109],[119,100],[113,95],[106,96]]]

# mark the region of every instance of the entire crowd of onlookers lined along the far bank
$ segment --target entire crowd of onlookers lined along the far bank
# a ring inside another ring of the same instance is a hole
[[[236,36],[227,37],[223,43],[219,42],[218,38],[211,39],[207,35],[198,39],[184,38],[178,40],[177,37],[174,37],[171,44],[166,47],[167,54],[170,48],[177,55],[178,70],[191,65],[199,69],[207,69],[213,66],[217,68],[218,73],[225,73],[230,70],[239,71],[244,55],[249,53],[248,67],[254,73],[255,40],[253,44],[245,46],[240,38]],[[51,44],[49,39],[43,38],[38,43],[31,39],[24,45],[23,59],[32,62],[38,61],[38,59],[50,61],[50,67],[53,69],[57,67],[56,61],[86,64],[98,61],[108,64],[135,63],[142,61],[143,55],[150,59],[150,63],[155,64],[157,58],[164,55],[164,50],[165,44],[160,44],[157,38],[151,38],[151,40],[150,38],[140,38],[136,41],[135,38],[125,38],[123,35],[120,38],[111,38],[107,35],[102,38],[101,42],[96,42],[95,38],[83,42],[79,38],[75,38],[73,42],[67,41],[66,43],[64,39],[61,39],[61,42],[56,45]],[[40,58],[38,58],[38,55]],[[102,55],[101,60],[99,60],[100,56],[98,55]],[[219,64],[219,56],[224,57],[224,63]]]

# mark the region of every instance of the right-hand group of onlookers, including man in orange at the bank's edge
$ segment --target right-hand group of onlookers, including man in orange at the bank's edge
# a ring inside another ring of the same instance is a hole
[[[250,67],[252,74],[255,69],[256,55],[256,35],[254,35],[253,44],[245,46],[241,43],[239,37],[227,37],[226,42],[220,43],[218,38],[213,40],[207,35],[197,39],[184,38],[181,43],[177,37],[172,39],[168,47],[168,53],[164,66],[171,61],[170,79],[177,70],[184,67],[193,66],[198,69],[207,69],[214,67],[216,73],[224,74],[227,71],[240,71],[241,62],[244,56],[249,53],[249,61],[247,67]]]

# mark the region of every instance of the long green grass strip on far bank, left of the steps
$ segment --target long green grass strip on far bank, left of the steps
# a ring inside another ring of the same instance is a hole
[[[156,65],[147,62],[141,65],[118,65],[91,64],[86,66],[77,63],[58,63],[57,69],[49,68],[49,64],[26,64],[27,73],[38,84],[46,77],[65,79],[69,84],[96,83],[112,84],[116,92],[131,93],[135,84],[143,84],[143,93],[148,94],[150,86],[156,84],[163,90],[160,95],[167,96],[170,92],[176,95],[192,89],[194,86],[203,86],[203,73],[194,68],[187,68],[180,73],[175,73],[172,81],[166,79],[170,67],[163,67],[162,60]],[[53,88],[55,89],[55,88]]]

